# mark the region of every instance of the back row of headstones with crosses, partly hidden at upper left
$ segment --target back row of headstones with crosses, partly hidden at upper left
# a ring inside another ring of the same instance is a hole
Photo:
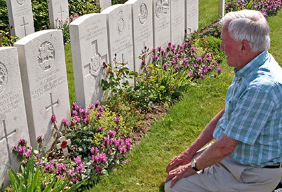
[[[6,0],[6,2],[12,36],[23,38],[34,33],[31,0]],[[112,1],[97,0],[97,5],[104,10],[112,5]],[[62,22],[68,22],[68,0],[49,0],[48,12],[51,29],[57,28]]]

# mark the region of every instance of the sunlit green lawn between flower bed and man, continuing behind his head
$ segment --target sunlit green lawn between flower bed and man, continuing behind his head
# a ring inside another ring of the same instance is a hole
[[[282,64],[282,14],[268,19],[272,30],[272,48],[277,62]],[[164,191],[164,178],[169,160],[196,139],[209,120],[224,107],[225,94],[233,78],[233,69],[222,64],[222,74],[207,77],[154,123],[140,145],[129,155],[131,162],[105,176],[89,191]]]

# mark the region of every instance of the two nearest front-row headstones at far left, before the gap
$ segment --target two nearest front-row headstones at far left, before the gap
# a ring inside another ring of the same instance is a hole
[[[37,147],[53,142],[54,114],[60,126],[70,118],[62,31],[29,34],[14,47],[0,47],[0,185],[7,183],[8,167],[18,169],[12,146],[19,139]]]

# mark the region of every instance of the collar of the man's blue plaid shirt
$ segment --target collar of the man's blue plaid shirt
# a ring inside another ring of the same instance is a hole
[[[251,71],[261,67],[261,65],[264,64],[264,62],[266,62],[268,58],[269,58],[268,51],[263,51],[258,56],[253,58],[253,60],[248,62],[248,64],[246,64],[242,69],[234,69],[235,76],[236,77],[247,77],[248,74],[251,73]]]

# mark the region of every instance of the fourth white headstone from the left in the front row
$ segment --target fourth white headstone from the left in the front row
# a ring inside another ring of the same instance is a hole
[[[130,71],[134,71],[131,5],[112,5],[101,12],[107,15],[107,36],[110,49],[110,63],[116,61],[127,64]]]

